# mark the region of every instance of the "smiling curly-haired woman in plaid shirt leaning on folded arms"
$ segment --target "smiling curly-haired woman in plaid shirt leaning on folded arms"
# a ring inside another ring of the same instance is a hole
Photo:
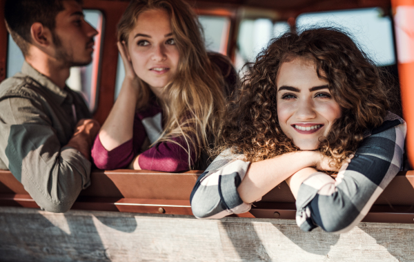
[[[228,105],[221,154],[191,194],[193,213],[247,212],[286,180],[302,230],[351,230],[402,167],[406,125],[387,111],[379,70],[334,28],[284,34],[250,69]]]

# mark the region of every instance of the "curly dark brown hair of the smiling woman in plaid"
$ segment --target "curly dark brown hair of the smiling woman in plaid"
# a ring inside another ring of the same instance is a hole
[[[282,63],[302,58],[313,61],[317,76],[328,81],[342,109],[317,150],[339,166],[357,150],[364,131],[382,124],[389,107],[380,72],[351,37],[336,28],[288,32],[270,41],[257,56],[241,87],[228,105],[223,127],[224,148],[243,153],[247,161],[261,161],[299,150],[278,123],[277,72]],[[216,152],[216,153],[217,153]]]

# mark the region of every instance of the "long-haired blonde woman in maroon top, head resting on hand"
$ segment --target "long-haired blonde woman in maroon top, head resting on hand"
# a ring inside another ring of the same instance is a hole
[[[190,6],[131,1],[118,40],[126,77],[92,148],[97,167],[206,168],[205,149],[217,144],[225,84]]]

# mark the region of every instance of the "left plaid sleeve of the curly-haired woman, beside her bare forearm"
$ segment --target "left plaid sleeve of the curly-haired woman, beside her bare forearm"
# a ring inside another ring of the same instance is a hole
[[[251,204],[244,203],[237,192],[250,165],[242,158],[225,150],[199,176],[190,196],[191,209],[197,218],[221,219],[250,210]]]

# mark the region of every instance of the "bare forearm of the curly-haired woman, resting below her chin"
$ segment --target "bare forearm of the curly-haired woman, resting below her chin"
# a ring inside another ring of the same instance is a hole
[[[317,157],[317,152],[297,151],[252,163],[237,192],[244,203],[257,201],[292,174],[314,166]]]

